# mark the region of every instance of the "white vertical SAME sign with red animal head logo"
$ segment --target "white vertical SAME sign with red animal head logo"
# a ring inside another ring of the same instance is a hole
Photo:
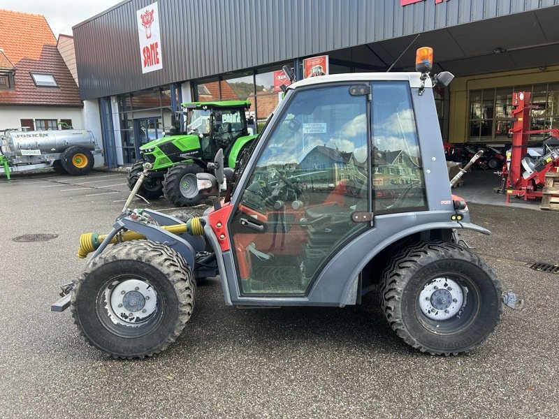
[[[138,38],[140,40],[140,61],[142,73],[161,70],[161,37],[159,36],[159,9],[157,1],[136,11]]]

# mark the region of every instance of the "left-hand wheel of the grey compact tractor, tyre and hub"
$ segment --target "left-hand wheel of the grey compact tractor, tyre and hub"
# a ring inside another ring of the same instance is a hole
[[[144,358],[179,337],[196,284],[182,257],[136,240],[103,251],[72,291],[71,311],[85,340],[113,358]]]

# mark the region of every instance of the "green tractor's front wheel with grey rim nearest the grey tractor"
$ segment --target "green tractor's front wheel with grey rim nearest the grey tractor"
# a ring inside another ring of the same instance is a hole
[[[194,163],[181,163],[169,168],[163,181],[165,198],[177,207],[198,205],[204,198],[198,193],[196,173],[203,172]]]

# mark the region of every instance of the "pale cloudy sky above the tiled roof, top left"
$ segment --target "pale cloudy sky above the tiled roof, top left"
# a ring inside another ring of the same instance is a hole
[[[43,15],[50,29],[72,36],[75,24],[121,3],[122,0],[0,0],[0,9]]]

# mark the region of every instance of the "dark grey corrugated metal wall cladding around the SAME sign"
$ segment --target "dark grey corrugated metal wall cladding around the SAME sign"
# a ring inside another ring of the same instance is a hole
[[[82,98],[307,57],[521,13],[559,0],[157,0],[163,69],[142,74],[136,10],[124,1],[73,27]]]

